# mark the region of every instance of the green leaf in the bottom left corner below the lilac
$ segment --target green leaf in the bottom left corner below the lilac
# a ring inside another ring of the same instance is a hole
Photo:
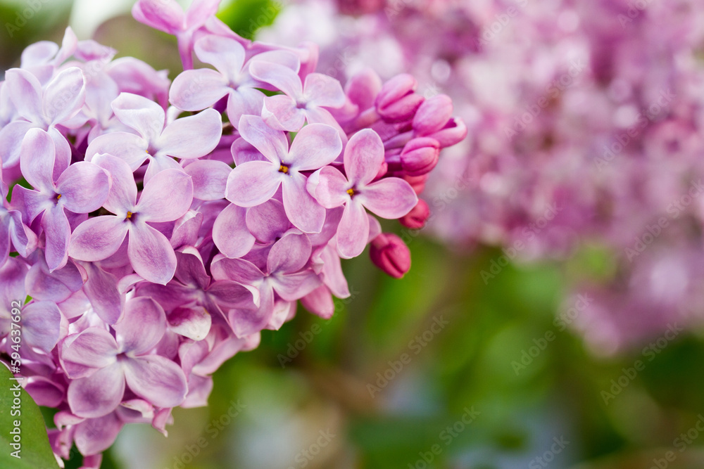
[[[13,375],[0,365],[0,468],[13,469],[55,469],[58,468],[54,453],[49,446],[46,425],[39,406],[25,390],[20,388],[20,404],[13,409],[14,392],[11,388],[21,381],[12,379]],[[19,415],[12,415],[17,413]],[[15,420],[20,423],[20,458],[11,456],[15,449],[11,431],[15,429]]]

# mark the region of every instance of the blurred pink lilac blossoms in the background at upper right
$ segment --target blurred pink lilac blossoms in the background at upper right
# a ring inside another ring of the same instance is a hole
[[[517,259],[605,246],[611,278],[574,287],[601,353],[702,319],[704,1],[337,4],[297,1],[262,37],[316,37],[341,79],[408,71],[451,96],[469,137],[429,180],[434,235]],[[309,11],[327,20],[306,36]]]

